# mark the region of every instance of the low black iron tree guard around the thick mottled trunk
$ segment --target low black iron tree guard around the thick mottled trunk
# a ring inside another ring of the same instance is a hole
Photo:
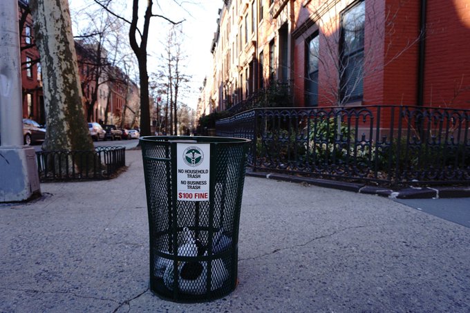
[[[63,180],[105,180],[126,165],[126,149],[101,146],[95,151],[37,151],[41,182]]]

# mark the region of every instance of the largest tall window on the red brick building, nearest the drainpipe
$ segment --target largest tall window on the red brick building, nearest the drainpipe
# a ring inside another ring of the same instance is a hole
[[[361,1],[341,17],[341,101],[361,100],[364,92],[365,4]]]

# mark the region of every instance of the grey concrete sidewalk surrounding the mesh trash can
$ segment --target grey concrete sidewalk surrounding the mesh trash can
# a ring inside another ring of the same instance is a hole
[[[149,291],[140,151],[101,182],[0,205],[0,312],[469,312],[470,229],[388,198],[247,177],[239,285],[180,304]]]

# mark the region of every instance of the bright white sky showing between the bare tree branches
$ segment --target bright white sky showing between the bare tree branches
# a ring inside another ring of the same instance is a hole
[[[120,14],[126,16],[131,20],[131,1],[129,0],[113,0],[121,4],[116,6]],[[97,8],[93,0],[68,0],[71,8],[71,14],[79,11],[80,9],[93,10]],[[143,10],[147,1],[140,1],[140,8],[142,13],[140,19],[143,19]],[[153,0],[153,14],[164,15],[172,21],[182,22],[183,44],[182,50],[187,59],[185,63],[187,68],[185,70],[187,75],[191,75],[192,79],[189,84],[190,93],[186,95],[186,99],[182,102],[187,104],[190,108],[196,109],[199,97],[199,88],[203,86],[203,79],[208,73],[212,55],[210,48],[214,32],[217,29],[218,9],[222,8],[223,0]],[[179,4],[180,3],[180,4]],[[126,5],[129,6],[126,8]],[[72,16],[74,19],[74,16]],[[86,23],[86,22],[85,22]],[[79,27],[84,23],[79,23]],[[148,49],[149,61],[147,70],[150,73],[156,71],[158,60],[157,57],[164,52],[162,41],[167,36],[166,30],[169,23],[158,17],[152,17],[150,22],[150,32]],[[79,30],[74,29],[74,35],[77,35]],[[127,38],[126,38],[127,39]]]

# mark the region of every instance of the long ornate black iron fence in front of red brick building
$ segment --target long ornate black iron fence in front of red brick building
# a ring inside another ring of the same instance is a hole
[[[216,131],[252,140],[254,170],[382,185],[470,183],[470,110],[254,108],[219,120]]]

